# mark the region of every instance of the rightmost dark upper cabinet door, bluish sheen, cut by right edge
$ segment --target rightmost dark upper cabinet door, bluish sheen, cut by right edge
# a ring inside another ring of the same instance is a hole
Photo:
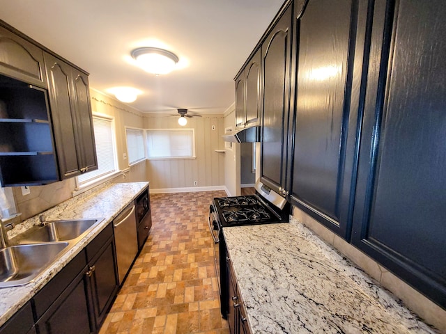
[[[446,6],[376,1],[352,242],[446,308]]]

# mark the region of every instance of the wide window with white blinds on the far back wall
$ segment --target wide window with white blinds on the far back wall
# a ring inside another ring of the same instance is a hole
[[[148,159],[195,157],[194,129],[148,129]]]

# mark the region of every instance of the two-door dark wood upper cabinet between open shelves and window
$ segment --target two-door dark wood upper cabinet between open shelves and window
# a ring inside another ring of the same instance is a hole
[[[97,169],[88,79],[51,54],[45,65],[61,179]]]

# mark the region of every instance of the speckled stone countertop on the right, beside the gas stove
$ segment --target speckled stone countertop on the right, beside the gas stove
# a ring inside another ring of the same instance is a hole
[[[438,333],[294,218],[223,231],[252,333]]]

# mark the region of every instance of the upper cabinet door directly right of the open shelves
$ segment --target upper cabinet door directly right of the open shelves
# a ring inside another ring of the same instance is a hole
[[[77,118],[72,104],[72,67],[58,58],[45,54],[45,65],[49,83],[54,139],[61,178],[79,175],[82,156],[78,151],[76,129]]]

